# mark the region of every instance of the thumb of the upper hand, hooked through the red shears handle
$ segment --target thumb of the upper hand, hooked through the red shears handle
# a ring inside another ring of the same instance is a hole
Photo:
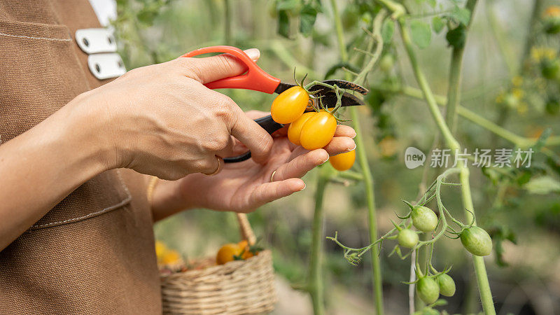
[[[260,51],[257,48],[250,48],[244,52],[255,61],[260,57]],[[202,84],[230,76],[239,76],[247,71],[247,66],[243,62],[229,54],[186,59],[191,59],[190,70],[193,71],[194,79]]]

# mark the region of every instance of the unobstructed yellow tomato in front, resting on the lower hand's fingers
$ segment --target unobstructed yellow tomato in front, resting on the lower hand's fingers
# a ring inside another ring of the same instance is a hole
[[[300,142],[307,150],[326,146],[337,129],[337,120],[328,111],[320,111],[311,116],[303,125]]]

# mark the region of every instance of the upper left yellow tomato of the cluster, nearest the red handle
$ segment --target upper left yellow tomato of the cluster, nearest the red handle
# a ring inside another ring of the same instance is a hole
[[[299,85],[290,87],[274,99],[270,108],[270,115],[276,123],[293,123],[302,116],[307,104],[309,104],[307,91]]]

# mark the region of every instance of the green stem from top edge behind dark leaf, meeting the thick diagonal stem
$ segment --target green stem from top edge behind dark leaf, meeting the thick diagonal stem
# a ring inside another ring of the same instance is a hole
[[[468,25],[465,29],[465,36],[468,36],[468,29],[472,24],[472,18],[475,13],[477,0],[468,0],[465,8],[470,12]],[[466,40],[465,40],[466,41]],[[447,106],[445,108],[445,122],[451,126],[451,132],[455,132],[457,127],[456,109],[461,99],[461,73],[463,72],[463,54],[465,52],[465,44],[454,47],[451,50],[451,66],[449,66],[449,87],[447,89]]]

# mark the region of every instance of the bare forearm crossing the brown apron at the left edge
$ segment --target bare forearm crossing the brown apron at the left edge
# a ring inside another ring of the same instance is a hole
[[[82,183],[108,169],[109,146],[80,97],[0,146],[0,250]]]

